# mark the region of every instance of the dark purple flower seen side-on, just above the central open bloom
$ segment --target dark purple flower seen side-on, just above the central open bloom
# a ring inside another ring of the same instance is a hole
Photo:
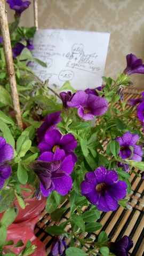
[[[60,114],[61,111],[58,111],[45,117],[43,124],[37,129],[39,142],[44,140],[44,135],[46,131],[52,131],[55,128],[56,124],[61,121]]]

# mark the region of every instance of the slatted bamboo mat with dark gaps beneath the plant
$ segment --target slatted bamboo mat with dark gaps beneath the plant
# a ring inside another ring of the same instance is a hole
[[[124,99],[127,101],[126,108],[129,108],[130,98],[141,97],[142,90],[139,89],[127,89],[124,93]],[[135,169],[140,173],[139,170]],[[110,241],[115,242],[124,235],[130,236],[133,240],[134,246],[131,249],[131,256],[142,256],[144,254],[144,191],[143,180],[137,177],[134,173],[131,175],[131,194],[127,195],[128,199],[127,209],[123,209],[119,206],[115,212],[101,212],[101,217],[98,220],[102,224],[102,228],[95,233],[85,233],[85,237],[90,237],[93,241],[97,242],[100,231],[106,231]],[[46,256],[51,256],[51,244],[54,237],[46,232],[48,226],[59,225],[61,222],[67,220],[70,214],[70,205],[66,201],[60,207],[68,207],[65,214],[62,215],[60,222],[54,222],[51,220],[50,214],[44,210],[40,216],[39,221],[35,226],[35,235],[45,244]],[[68,227],[70,230],[70,227]],[[68,231],[67,230],[67,231]],[[67,245],[69,244],[67,239]],[[78,243],[75,243],[78,246]],[[62,256],[66,255],[65,253]]]

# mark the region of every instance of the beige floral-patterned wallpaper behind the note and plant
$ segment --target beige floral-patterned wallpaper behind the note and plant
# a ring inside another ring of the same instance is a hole
[[[7,4],[6,8],[11,21],[13,13]],[[127,54],[137,55],[144,63],[143,13],[143,0],[38,0],[38,27],[110,33],[104,75],[116,78],[126,67]],[[22,24],[34,25],[33,0],[22,14]],[[143,75],[134,74],[132,80],[135,87],[144,89]]]

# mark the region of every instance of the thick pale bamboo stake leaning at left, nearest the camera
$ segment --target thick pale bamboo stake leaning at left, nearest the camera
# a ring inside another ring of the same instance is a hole
[[[1,34],[2,34],[2,39],[3,39],[5,63],[6,63],[7,74],[9,77],[14,115],[15,115],[15,118],[16,118],[19,128],[21,130],[23,130],[19,95],[18,95],[18,91],[17,91],[17,84],[16,84],[16,80],[15,80],[15,73],[14,73],[14,67],[13,67],[11,40],[10,40],[10,33],[9,33],[9,25],[8,25],[8,21],[7,21],[7,11],[5,10],[5,1],[4,0],[1,0],[0,28],[1,28]]]

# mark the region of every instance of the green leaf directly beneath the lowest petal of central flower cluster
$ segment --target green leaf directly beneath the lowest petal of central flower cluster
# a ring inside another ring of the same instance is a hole
[[[49,195],[49,197],[47,197],[46,200],[46,211],[48,213],[54,212],[61,203],[62,199],[65,199],[65,197],[62,197],[59,193],[57,193],[57,191],[52,191],[52,193]]]

